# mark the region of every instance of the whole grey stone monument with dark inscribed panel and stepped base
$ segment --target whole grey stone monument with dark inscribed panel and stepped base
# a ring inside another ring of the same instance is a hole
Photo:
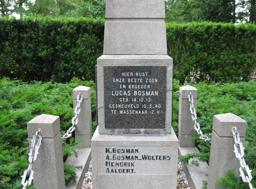
[[[164,0],[107,0],[97,59],[94,188],[176,188],[173,61]]]

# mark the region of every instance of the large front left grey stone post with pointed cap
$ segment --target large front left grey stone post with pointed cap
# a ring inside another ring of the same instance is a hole
[[[37,189],[63,189],[65,187],[59,116],[38,115],[28,124],[31,139],[41,131],[41,145],[33,163],[33,184]]]

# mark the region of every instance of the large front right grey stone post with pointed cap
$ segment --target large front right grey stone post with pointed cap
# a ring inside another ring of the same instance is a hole
[[[212,126],[210,162],[208,174],[208,189],[222,188],[215,181],[227,174],[228,170],[240,175],[240,163],[234,154],[234,139],[232,127],[237,127],[240,140],[244,146],[246,122],[232,113],[218,114],[214,116]]]

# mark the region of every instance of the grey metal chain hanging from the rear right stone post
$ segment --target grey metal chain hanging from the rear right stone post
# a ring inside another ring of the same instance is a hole
[[[197,122],[197,112],[196,108],[194,106],[194,98],[191,92],[188,94],[188,101],[189,101],[189,110],[191,113],[191,118],[195,122],[194,129],[197,131],[197,133],[200,135],[200,139],[203,139],[206,143],[208,143],[211,139],[210,137],[203,134],[200,128],[200,124]]]

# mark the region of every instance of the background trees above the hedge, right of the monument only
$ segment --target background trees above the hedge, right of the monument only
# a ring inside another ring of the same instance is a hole
[[[255,0],[165,0],[166,21],[255,23]]]

